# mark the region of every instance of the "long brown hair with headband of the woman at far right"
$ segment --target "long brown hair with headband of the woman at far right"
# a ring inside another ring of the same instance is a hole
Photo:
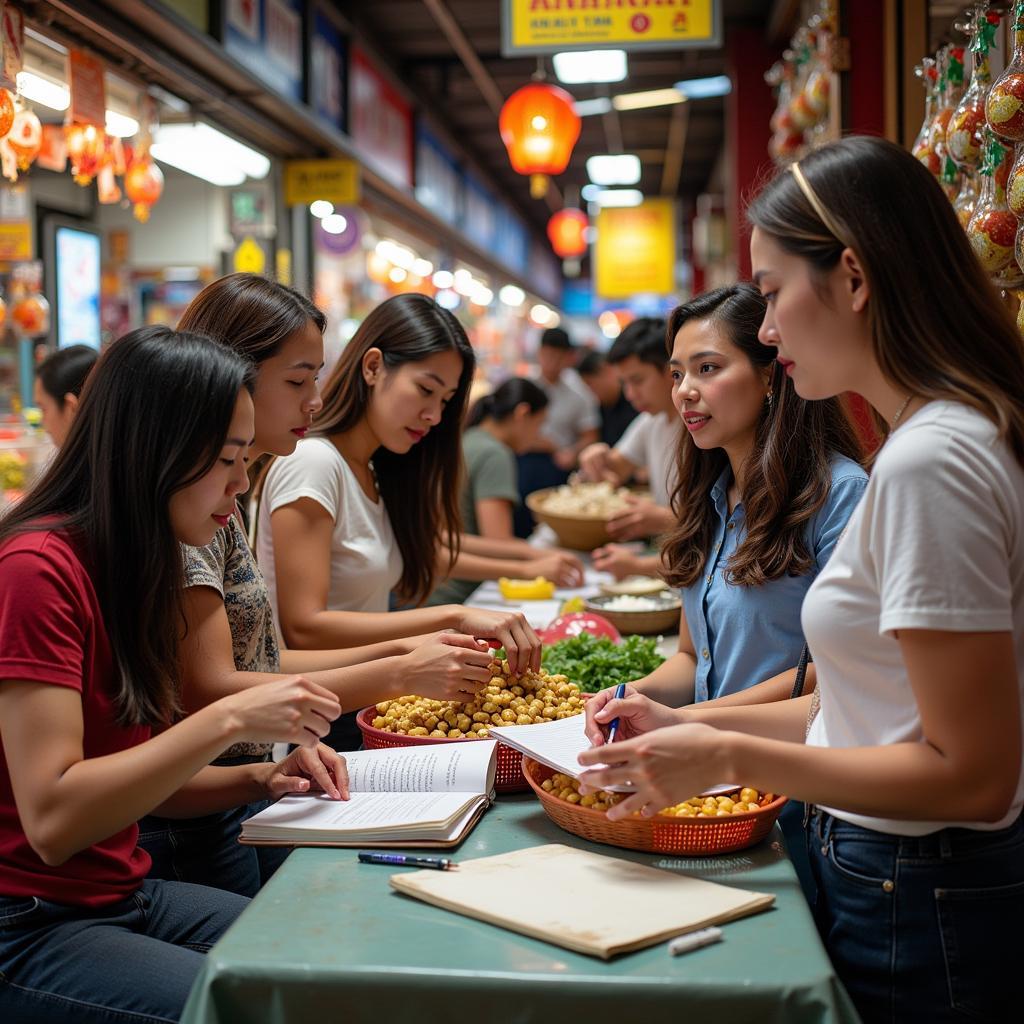
[[[815,150],[748,210],[820,280],[852,249],[870,298],[874,358],[901,390],[978,410],[1024,465],[1024,347],[938,182],[892,142],[850,136]]]

